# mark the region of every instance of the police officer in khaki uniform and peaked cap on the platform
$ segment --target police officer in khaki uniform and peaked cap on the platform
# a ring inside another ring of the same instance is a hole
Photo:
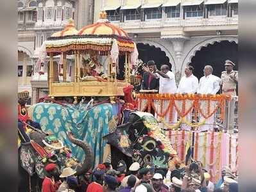
[[[225,71],[221,73],[221,91],[224,94],[236,96],[235,88],[238,82],[238,72],[233,70],[235,64],[230,61],[225,61]]]

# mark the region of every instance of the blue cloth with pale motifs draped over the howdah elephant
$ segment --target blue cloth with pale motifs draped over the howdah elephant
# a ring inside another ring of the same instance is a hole
[[[72,131],[76,138],[89,143],[94,152],[93,166],[96,166],[102,163],[103,150],[107,144],[102,137],[108,134],[108,122],[116,115],[115,107],[107,103],[85,110],[85,105],[38,103],[33,108],[32,119],[41,125],[42,130],[51,131],[71,148],[72,155],[79,161],[83,161],[84,152],[68,140],[67,132]]]

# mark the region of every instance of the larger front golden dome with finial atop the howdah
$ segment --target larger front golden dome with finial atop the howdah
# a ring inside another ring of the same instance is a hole
[[[118,28],[107,20],[106,12],[100,13],[99,20],[96,23],[81,28],[78,35],[116,35],[130,38],[123,29]]]

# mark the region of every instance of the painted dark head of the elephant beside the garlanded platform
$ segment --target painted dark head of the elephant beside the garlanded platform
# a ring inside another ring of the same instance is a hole
[[[114,168],[121,159],[128,166],[137,161],[141,166],[151,163],[167,168],[168,162],[176,157],[176,151],[150,113],[131,112],[126,124],[118,126],[104,138],[111,145]]]

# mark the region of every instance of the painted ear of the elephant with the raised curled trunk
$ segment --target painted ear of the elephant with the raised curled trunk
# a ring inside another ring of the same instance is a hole
[[[35,173],[35,152],[31,145],[22,145],[20,147],[21,166],[30,176]]]

